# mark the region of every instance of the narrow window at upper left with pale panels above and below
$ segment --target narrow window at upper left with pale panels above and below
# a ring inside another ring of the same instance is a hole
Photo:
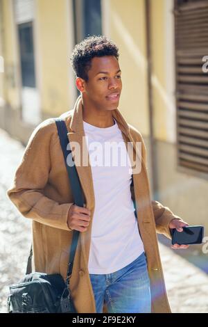
[[[21,74],[21,119],[37,125],[40,122],[40,93],[35,74],[34,28],[35,1],[13,0],[17,29],[19,66]]]

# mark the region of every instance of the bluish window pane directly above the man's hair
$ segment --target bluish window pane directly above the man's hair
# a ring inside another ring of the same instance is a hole
[[[101,35],[101,0],[73,0],[75,43]]]

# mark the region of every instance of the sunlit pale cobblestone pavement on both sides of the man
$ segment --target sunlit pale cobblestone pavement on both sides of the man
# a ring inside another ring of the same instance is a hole
[[[15,170],[21,162],[24,146],[0,129],[0,312],[7,312],[8,285],[26,272],[31,246],[31,221],[24,218],[6,196]],[[173,250],[167,241],[159,242],[164,278],[172,312],[208,313],[208,254],[201,259],[200,269]],[[190,253],[189,249],[189,253]],[[198,256],[193,250],[193,256]],[[191,253],[192,254],[192,253]]]

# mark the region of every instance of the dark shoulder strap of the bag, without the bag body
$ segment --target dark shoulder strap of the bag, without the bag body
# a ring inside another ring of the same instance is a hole
[[[68,177],[69,177],[69,183],[71,186],[71,190],[73,193],[74,203],[76,205],[78,205],[79,207],[83,207],[84,206],[84,196],[83,196],[83,191],[82,191],[82,188],[80,185],[80,180],[78,177],[76,166],[73,163],[73,157],[71,155],[71,148],[70,148],[69,139],[67,136],[67,133],[68,133],[67,126],[66,126],[64,120],[61,120],[60,118],[55,118],[55,124],[58,129],[58,136],[60,139],[60,145],[62,147],[62,152],[64,155],[64,163],[67,168],[67,173],[68,173]],[[67,162],[69,162],[70,165],[68,165]],[[69,280],[69,276],[72,273],[73,260],[74,260],[75,253],[76,253],[79,234],[80,234],[80,232],[78,230],[73,230],[73,239],[72,239],[71,250],[70,250],[70,255],[69,255],[67,280]],[[31,273],[31,271],[32,271],[32,265],[31,265],[32,256],[33,256],[33,250],[32,250],[32,246],[31,246],[31,252],[28,257],[26,273]]]

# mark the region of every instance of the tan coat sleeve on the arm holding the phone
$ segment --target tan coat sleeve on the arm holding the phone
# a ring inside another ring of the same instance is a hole
[[[141,136],[141,134],[140,134]],[[142,152],[142,158],[144,160],[144,164],[147,167],[147,161],[146,161],[146,145],[144,143],[144,139],[141,136],[141,152]],[[155,225],[156,225],[156,231],[159,234],[164,234],[168,239],[171,239],[171,231],[169,229],[169,223],[173,219],[179,219],[180,221],[183,221],[182,218],[179,216],[173,214],[171,212],[171,209],[168,207],[164,207],[162,203],[151,200],[151,204],[153,207],[153,214],[155,218]]]

